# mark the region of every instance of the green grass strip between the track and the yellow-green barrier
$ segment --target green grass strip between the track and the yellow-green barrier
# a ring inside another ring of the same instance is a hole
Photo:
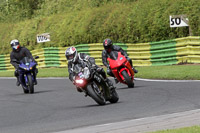
[[[177,79],[200,80],[199,65],[173,65],[173,66],[148,66],[136,67],[139,73],[136,78],[147,79]],[[67,68],[43,68],[39,69],[38,77],[66,77]],[[2,71],[0,77],[13,77],[13,71]]]

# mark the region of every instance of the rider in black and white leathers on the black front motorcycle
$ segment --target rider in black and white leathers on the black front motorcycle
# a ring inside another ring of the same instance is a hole
[[[107,82],[107,84],[109,85],[109,88],[115,89],[115,87],[113,86],[113,83],[111,80],[109,80],[106,77],[106,73],[103,70],[103,68],[97,66],[95,64],[95,59],[93,57],[90,57],[89,55],[85,54],[85,53],[78,53],[75,47],[69,47],[67,48],[67,50],[65,51],[65,56],[68,60],[68,72],[69,72],[69,79],[74,83],[75,81],[75,75],[73,73],[73,66],[75,64],[80,64],[83,68],[86,67],[86,63],[90,64],[91,67],[95,68],[97,70],[97,72],[99,74],[101,74],[105,81]],[[81,89],[77,88],[77,91],[82,92]]]

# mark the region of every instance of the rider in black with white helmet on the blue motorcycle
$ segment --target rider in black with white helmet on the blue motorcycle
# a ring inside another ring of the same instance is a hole
[[[10,42],[10,45],[12,47],[12,52],[10,53],[10,63],[15,67],[15,72],[14,72],[14,75],[16,76],[17,78],[17,83],[16,85],[19,86],[20,85],[20,82],[19,82],[19,76],[23,76],[23,73],[20,71],[19,69],[19,64],[18,62],[20,60],[22,60],[24,57],[28,57],[30,59],[32,59],[34,62],[35,59],[33,58],[31,52],[25,48],[25,47],[21,47],[20,44],[19,44],[19,41],[14,39]],[[15,61],[17,60],[17,62]],[[36,62],[37,63],[37,62]],[[35,70],[34,70],[35,69]],[[38,73],[38,69],[37,68],[33,68],[33,76],[35,78],[35,82],[34,84],[36,85],[37,84],[37,80],[36,80],[36,75]]]

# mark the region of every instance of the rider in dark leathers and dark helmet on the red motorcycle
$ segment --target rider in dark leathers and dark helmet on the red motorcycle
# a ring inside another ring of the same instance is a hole
[[[107,74],[109,76],[114,77],[114,75],[110,69],[110,65],[108,64],[108,61],[107,61],[107,58],[109,57],[109,53],[111,51],[121,52],[121,54],[124,55],[126,57],[126,59],[129,61],[129,63],[131,64],[134,73],[138,73],[138,71],[133,67],[132,60],[128,57],[127,53],[120,46],[113,45],[111,39],[105,39],[103,41],[103,47],[104,47],[104,50],[102,51],[102,62],[107,67]],[[115,79],[116,83],[119,82],[117,80],[117,78],[114,77],[114,79]]]

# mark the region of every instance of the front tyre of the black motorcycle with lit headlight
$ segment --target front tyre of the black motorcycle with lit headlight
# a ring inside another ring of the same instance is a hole
[[[100,91],[100,88],[99,87],[92,87],[92,85],[88,85],[87,86],[87,92],[88,92],[88,95],[96,102],[98,103],[99,105],[105,105],[106,104],[106,100],[105,98],[103,97],[101,91]]]

